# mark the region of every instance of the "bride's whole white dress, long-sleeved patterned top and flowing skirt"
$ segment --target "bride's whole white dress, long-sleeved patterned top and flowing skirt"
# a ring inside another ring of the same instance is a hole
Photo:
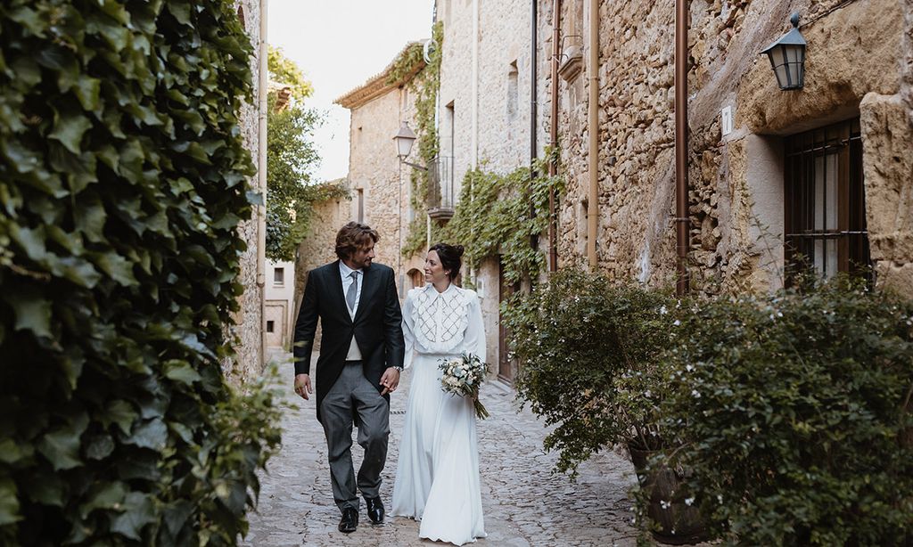
[[[405,366],[413,367],[394,482],[393,514],[421,520],[418,535],[462,545],[486,536],[471,399],[441,390],[441,359],[463,352],[485,360],[475,292],[426,284],[403,306]]]

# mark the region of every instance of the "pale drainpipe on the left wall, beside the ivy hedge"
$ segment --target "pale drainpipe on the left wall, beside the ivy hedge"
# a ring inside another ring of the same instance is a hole
[[[259,83],[257,84],[257,186],[263,196],[263,204],[257,205],[257,292],[260,296],[260,370],[266,366],[266,266],[267,266],[267,3],[260,0],[260,53]]]

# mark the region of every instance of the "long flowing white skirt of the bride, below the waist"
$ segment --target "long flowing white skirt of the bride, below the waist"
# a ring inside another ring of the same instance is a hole
[[[462,545],[486,536],[476,414],[470,399],[441,391],[444,357],[413,360],[393,514],[421,520],[419,537]]]

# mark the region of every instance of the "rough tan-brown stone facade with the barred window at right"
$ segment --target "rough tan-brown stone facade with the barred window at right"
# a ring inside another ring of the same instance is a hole
[[[554,1],[540,3],[545,111]],[[568,183],[559,210],[561,265],[585,263],[589,4],[561,2],[563,53],[572,55],[571,46],[583,53],[579,74],[557,81]],[[867,261],[867,232],[877,283],[913,296],[911,5],[689,5],[692,289],[777,288],[796,256],[791,249],[802,245],[819,272],[832,274],[847,257]],[[792,11],[808,43],[805,85],[781,91],[760,52],[790,28]],[[675,5],[601,2],[598,17],[598,265],[616,279],[667,286],[676,277]],[[572,63],[569,55],[561,62]],[[726,134],[724,108],[733,120]]]

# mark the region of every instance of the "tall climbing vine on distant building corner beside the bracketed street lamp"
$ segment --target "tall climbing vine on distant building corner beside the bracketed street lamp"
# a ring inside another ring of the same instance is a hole
[[[431,28],[431,36],[436,47],[430,53],[431,62],[415,74],[409,82],[410,89],[415,93],[415,134],[417,136],[417,153],[419,163],[432,165],[440,151],[435,127],[435,113],[437,108],[437,92],[441,87],[441,52],[444,44],[444,23],[438,21]],[[415,67],[424,62],[421,44],[414,44],[408,48],[395,62],[390,71],[388,82],[401,81],[415,71]],[[411,204],[413,211],[425,211],[429,172],[425,170],[412,170],[410,177],[412,191]],[[409,225],[409,232],[403,243],[403,254],[410,257],[425,248],[425,215],[416,215],[415,220]]]

